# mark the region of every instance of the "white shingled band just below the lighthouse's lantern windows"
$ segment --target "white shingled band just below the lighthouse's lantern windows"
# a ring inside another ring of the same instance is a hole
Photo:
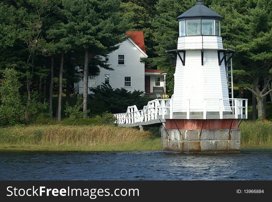
[[[203,43],[202,43],[203,42]],[[223,49],[219,36],[183,36],[178,38],[177,49]]]

